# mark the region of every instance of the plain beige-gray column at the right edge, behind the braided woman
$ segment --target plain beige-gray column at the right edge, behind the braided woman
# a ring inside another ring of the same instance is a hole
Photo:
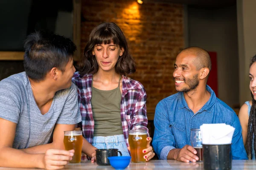
[[[237,0],[239,47],[239,102],[251,100],[249,89],[250,59],[256,54],[256,0]]]

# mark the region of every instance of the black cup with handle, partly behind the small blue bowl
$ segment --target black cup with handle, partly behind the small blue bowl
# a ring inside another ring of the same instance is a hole
[[[96,149],[96,163],[98,165],[110,165],[108,157],[118,156],[118,152],[122,156],[118,149]]]

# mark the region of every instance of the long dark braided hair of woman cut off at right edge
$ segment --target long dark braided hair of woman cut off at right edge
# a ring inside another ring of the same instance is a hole
[[[251,59],[250,67],[253,65],[253,63],[256,62],[256,55],[253,56]],[[248,120],[248,130],[247,130],[247,142],[246,142],[246,150],[247,150],[247,156],[248,159],[252,159],[252,150],[254,149],[256,153],[256,101],[253,97],[253,94],[251,92],[252,96],[252,107],[250,110],[250,116]],[[254,136],[254,139],[253,139]],[[254,148],[252,148],[252,145],[254,145]]]

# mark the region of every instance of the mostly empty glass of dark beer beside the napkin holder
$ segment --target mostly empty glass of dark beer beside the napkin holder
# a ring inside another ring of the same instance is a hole
[[[197,151],[196,156],[198,156],[198,161],[203,161],[203,145],[200,129],[190,130],[190,142],[192,147]]]

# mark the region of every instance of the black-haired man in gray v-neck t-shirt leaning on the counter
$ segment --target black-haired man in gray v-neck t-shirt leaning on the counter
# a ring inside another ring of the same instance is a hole
[[[76,45],[35,32],[24,48],[26,72],[0,81],[0,167],[61,169],[74,153],[64,150],[63,131],[81,122],[71,82]]]

